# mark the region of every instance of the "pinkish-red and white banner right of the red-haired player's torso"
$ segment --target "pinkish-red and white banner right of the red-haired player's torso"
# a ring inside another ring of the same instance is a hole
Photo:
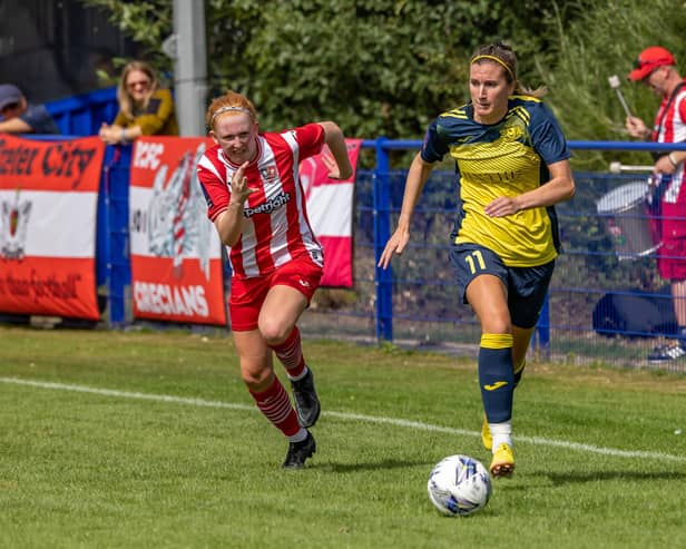
[[[330,179],[333,158],[329,147],[303,160],[300,175],[307,198],[312,229],[324,247],[322,286],[353,286],[353,202],[357,158],[362,139],[345,139],[353,166],[350,179]]]

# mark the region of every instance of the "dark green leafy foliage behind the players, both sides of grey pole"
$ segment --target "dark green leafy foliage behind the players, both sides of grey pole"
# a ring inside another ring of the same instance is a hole
[[[170,66],[159,57],[173,30],[170,0],[84,1],[109,10],[159,65]],[[208,0],[206,7],[210,95],[246,94],[265,128],[335,119],[351,136],[412,139],[468,99],[468,61],[481,43],[512,45],[522,80],[542,84],[535,55],[550,57],[558,16],[531,0]]]

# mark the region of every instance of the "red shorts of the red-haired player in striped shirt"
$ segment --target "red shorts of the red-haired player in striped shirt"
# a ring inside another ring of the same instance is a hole
[[[246,332],[257,327],[262,304],[268,291],[274,286],[291,286],[307,297],[307,303],[310,303],[320,286],[322,274],[322,267],[314,263],[307,254],[303,254],[266,276],[251,278],[234,276],[231,281],[228,300],[232,330]]]

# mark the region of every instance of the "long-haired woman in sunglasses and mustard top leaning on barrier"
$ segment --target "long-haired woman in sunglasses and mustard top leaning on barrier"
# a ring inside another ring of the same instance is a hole
[[[117,87],[119,112],[110,125],[102,124],[100,138],[109,144],[130,143],[139,136],[178,135],[171,92],[160,88],[153,68],[144,61],[124,67]]]

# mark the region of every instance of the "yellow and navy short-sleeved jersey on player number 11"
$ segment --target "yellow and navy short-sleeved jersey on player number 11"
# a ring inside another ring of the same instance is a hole
[[[508,266],[542,265],[557,257],[559,235],[553,207],[489,217],[484,207],[500,196],[518,196],[550,179],[548,166],[570,157],[552,111],[535,97],[511,96],[508,112],[493,125],[479,124],[471,104],[431,122],[421,157],[455,160],[458,217],[451,238],[496,252]]]

